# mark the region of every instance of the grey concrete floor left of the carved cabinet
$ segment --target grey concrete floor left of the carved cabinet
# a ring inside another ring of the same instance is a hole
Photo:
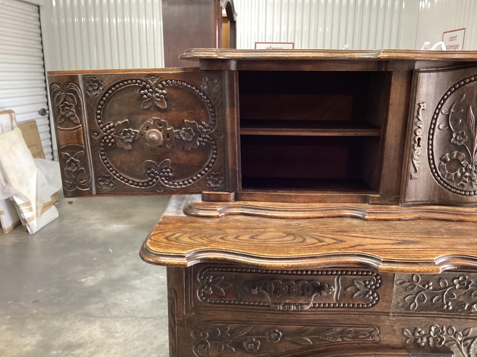
[[[138,255],[167,201],[60,197],[36,234],[0,233],[0,356],[168,356],[166,269]]]

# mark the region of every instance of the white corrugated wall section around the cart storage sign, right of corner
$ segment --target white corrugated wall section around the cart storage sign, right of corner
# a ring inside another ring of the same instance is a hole
[[[466,28],[464,50],[477,50],[476,0],[420,0],[416,46],[442,41],[444,31]]]

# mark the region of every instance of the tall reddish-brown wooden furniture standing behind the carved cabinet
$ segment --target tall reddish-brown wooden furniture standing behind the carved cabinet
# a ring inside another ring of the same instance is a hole
[[[179,59],[187,48],[234,49],[236,20],[233,0],[162,0],[164,65],[194,66]]]

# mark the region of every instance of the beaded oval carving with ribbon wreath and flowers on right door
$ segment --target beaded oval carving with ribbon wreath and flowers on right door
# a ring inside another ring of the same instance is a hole
[[[436,107],[429,127],[429,164],[436,181],[447,190],[465,196],[477,194],[477,129],[473,99],[467,98],[466,93],[454,94],[466,85],[473,83],[476,76],[470,76],[456,82],[441,98]],[[446,102],[454,98],[449,107]],[[466,99],[466,100],[465,100]],[[439,125],[440,118],[444,121]],[[435,158],[437,146],[436,131],[448,132],[448,151]],[[440,173],[440,175],[439,175]]]

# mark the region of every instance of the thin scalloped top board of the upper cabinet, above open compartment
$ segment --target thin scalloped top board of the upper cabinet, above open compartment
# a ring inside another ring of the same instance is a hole
[[[188,49],[182,60],[453,60],[476,61],[477,51]]]

